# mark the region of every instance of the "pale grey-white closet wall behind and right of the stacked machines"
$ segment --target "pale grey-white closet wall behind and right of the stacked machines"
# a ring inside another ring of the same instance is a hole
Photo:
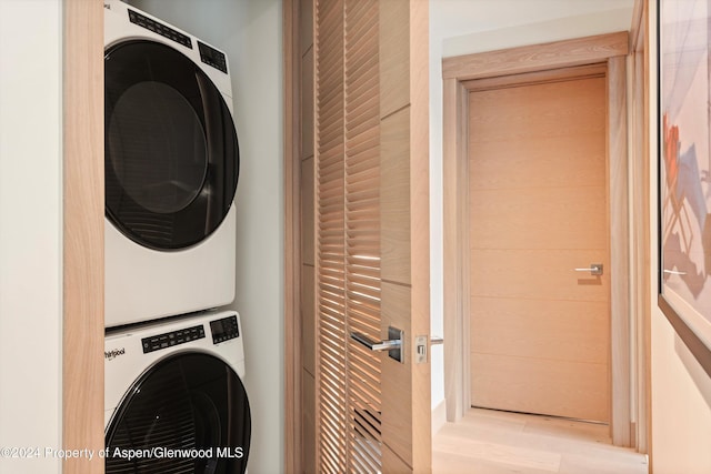
[[[3,1],[3,0],[0,0]],[[283,70],[280,0],[133,0],[227,52],[240,141],[237,296],[252,411],[250,473],[283,471]]]

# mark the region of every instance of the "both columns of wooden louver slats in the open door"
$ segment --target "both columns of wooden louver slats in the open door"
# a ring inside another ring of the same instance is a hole
[[[380,330],[378,40],[377,36],[373,40],[372,34],[362,34],[373,29],[369,23],[377,20],[377,3],[349,1],[341,6],[344,13],[317,18],[317,30],[327,31],[322,38],[317,33],[317,53],[328,50],[323,65],[317,62],[317,137],[322,139],[317,148],[317,278],[332,282],[328,286],[319,284],[324,377],[320,392],[329,416],[321,422],[318,465],[322,471],[344,471],[344,466],[373,471],[380,465],[379,450],[369,450],[360,441],[379,438],[379,430],[368,423],[361,426],[356,420],[361,416],[359,411],[381,411],[380,370],[375,369],[379,356],[364,353],[347,335],[360,331],[377,336]],[[341,24],[344,42],[336,38],[336,23]],[[342,276],[333,281],[329,276],[332,271]],[[336,399],[323,393],[337,383],[334,377],[342,380]]]

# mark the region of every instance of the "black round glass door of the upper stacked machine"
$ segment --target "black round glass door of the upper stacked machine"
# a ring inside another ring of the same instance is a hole
[[[108,219],[129,239],[178,250],[227,215],[239,174],[232,115],[190,58],[137,40],[104,57]]]

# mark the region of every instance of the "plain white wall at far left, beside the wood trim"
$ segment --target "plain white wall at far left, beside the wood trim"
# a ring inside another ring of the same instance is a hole
[[[58,0],[0,1],[0,455],[2,473],[59,473],[62,22]]]

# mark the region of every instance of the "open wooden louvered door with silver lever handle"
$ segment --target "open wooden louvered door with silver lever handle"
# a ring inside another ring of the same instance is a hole
[[[428,8],[314,6],[318,472],[431,470]],[[389,326],[404,363],[350,337]]]

